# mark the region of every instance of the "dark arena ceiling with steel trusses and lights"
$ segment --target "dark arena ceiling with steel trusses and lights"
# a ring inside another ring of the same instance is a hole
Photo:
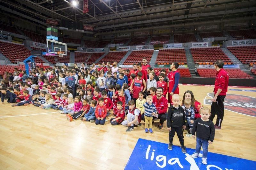
[[[76,6],[73,5],[76,1]],[[39,21],[47,18],[93,25],[113,31],[188,22],[255,17],[255,0],[0,0],[0,9],[19,12]]]

